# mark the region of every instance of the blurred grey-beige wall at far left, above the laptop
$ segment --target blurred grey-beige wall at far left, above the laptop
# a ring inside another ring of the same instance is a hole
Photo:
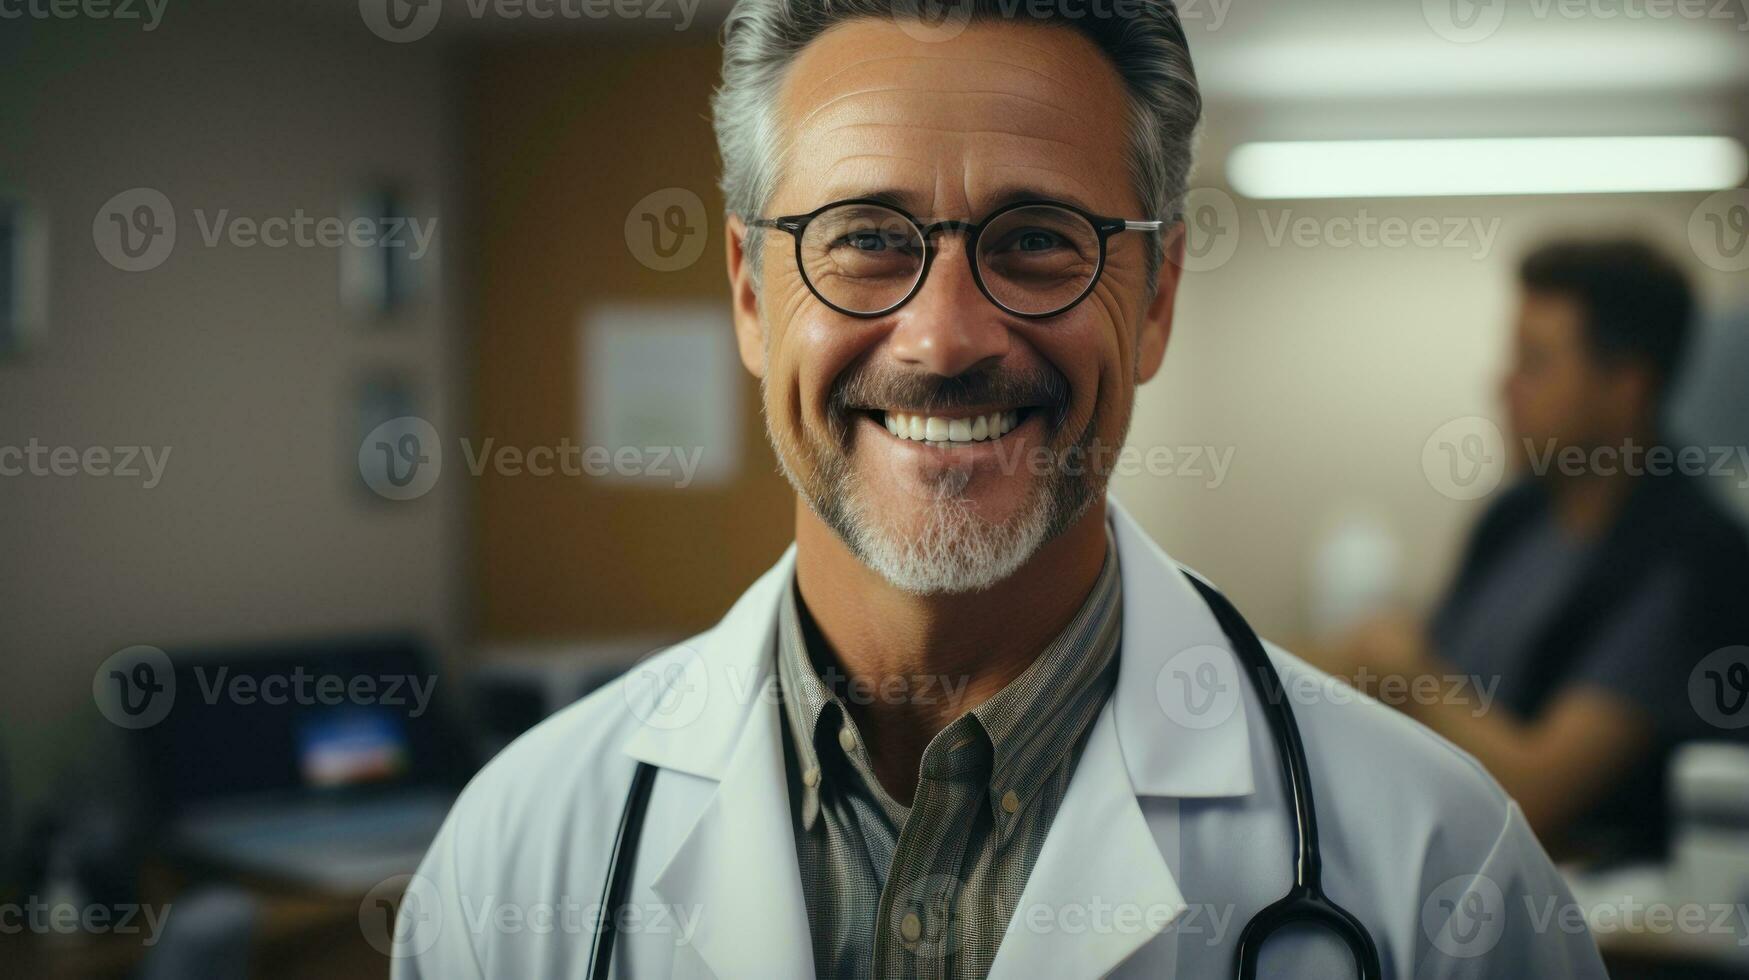
[[[208,224],[336,215],[392,177],[439,222],[448,252],[430,264],[453,262],[465,234],[434,47],[171,4],[152,32],[9,19],[0,63],[0,187],[37,201],[51,240],[51,331],[0,359],[0,444],[170,450],[150,490],[0,480],[0,737],[28,805],[114,765],[91,679],[121,648],[376,626],[453,648],[467,486],[371,495],[353,392],[390,368],[439,425],[458,416],[456,276],[432,268],[415,308],[360,326],[341,312],[334,248],[208,247],[196,210]],[[177,245],[128,273],[91,226],[142,186],[175,206]]]

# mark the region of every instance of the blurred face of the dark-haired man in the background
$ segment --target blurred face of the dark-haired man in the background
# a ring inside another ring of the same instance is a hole
[[[1621,374],[1623,368],[1592,352],[1578,301],[1525,292],[1504,385],[1518,462],[1532,448],[1544,453],[1550,443],[1590,450],[1630,436],[1639,406]]]

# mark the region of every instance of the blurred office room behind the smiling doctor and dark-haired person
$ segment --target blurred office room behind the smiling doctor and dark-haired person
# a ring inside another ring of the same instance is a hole
[[[1516,262],[1553,236],[1632,234],[1683,266],[1702,315],[1677,416],[1749,446],[1749,12],[1181,7],[1207,100],[1191,252],[1130,430],[1172,464],[1111,492],[1259,632],[1317,644],[1450,584],[1488,497],[1453,492],[1429,443],[1504,425]],[[729,340],[726,5],[456,0],[411,30],[352,0],[91,9],[0,19],[0,446],[40,448],[0,476],[0,905],[28,922],[0,929],[0,975],[383,976],[381,914],[448,794],[708,626],[789,542]],[[1397,168],[1300,196],[1307,170],[1235,166],[1272,144],[1581,136],[1672,138],[1639,170],[1700,175],[1453,192]],[[173,248],[117,252],[157,201]],[[408,217],[401,252],[320,240],[359,215]],[[429,486],[374,460],[408,416],[441,446]],[[624,444],[701,455],[617,466]],[[1749,520],[1742,458],[1705,483]],[[133,726],[110,691],[152,651],[178,707],[224,710]],[[404,677],[374,702],[402,707],[311,721],[322,677]],[[1679,847],[1637,877],[1572,868],[1618,976],[1749,976],[1749,915],[1609,928],[1611,889],[1749,906],[1749,761],[1718,742],[1697,779],[1742,822],[1709,810],[1705,873]],[[126,906],[135,929],[19,912],[54,906]]]

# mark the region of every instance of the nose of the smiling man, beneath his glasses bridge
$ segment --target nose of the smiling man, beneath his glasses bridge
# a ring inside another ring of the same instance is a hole
[[[957,238],[937,243],[923,287],[897,313],[892,354],[951,378],[1007,354],[1007,317],[978,289]]]

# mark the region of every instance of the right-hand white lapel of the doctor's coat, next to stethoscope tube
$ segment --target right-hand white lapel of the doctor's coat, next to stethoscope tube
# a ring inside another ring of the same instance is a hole
[[[1170,936],[1189,903],[1172,872],[1170,821],[1149,821],[1163,810],[1144,812],[1144,798],[1256,789],[1231,644],[1177,564],[1116,500],[1107,506],[1123,576],[1118,686],[1002,936],[993,980],[1104,976]]]

